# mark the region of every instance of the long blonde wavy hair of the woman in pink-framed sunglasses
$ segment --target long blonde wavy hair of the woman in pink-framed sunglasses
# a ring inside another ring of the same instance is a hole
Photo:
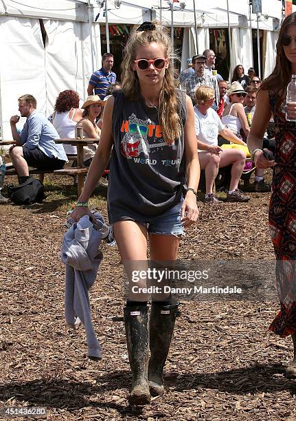
[[[166,144],[174,143],[174,140],[181,135],[180,106],[176,94],[177,83],[174,79],[174,69],[172,68],[172,43],[170,36],[163,26],[157,22],[154,30],[137,31],[134,29],[124,48],[124,58],[122,61],[122,91],[126,98],[137,100],[141,98],[141,89],[137,72],[133,71],[132,64],[136,58],[137,48],[150,43],[159,43],[163,46],[164,56],[168,58],[168,69],[163,78],[163,85],[159,96],[159,124],[162,127],[162,136]]]

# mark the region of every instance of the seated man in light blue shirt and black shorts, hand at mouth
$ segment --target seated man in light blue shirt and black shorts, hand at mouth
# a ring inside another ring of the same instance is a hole
[[[19,175],[20,184],[29,177],[28,166],[41,170],[61,169],[68,162],[62,144],[56,144],[54,139],[60,138],[58,132],[47,118],[36,111],[36,99],[32,95],[19,98],[19,112],[27,121],[19,133],[16,123],[19,116],[10,118],[12,138],[16,146],[10,149],[12,164]]]

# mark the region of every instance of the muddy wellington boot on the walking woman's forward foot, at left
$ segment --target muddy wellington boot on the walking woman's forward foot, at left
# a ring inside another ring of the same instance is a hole
[[[124,325],[128,359],[133,374],[128,402],[131,405],[150,403],[147,371],[149,358],[148,307],[125,307]]]

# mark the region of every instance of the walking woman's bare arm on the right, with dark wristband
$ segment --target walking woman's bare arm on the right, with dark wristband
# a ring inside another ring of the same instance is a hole
[[[186,179],[188,188],[197,191],[201,169],[198,161],[196,147],[196,136],[194,129],[194,110],[192,100],[186,96],[187,119],[184,127],[184,147],[186,162]],[[192,190],[188,190],[182,206],[181,219],[184,226],[190,226],[198,218],[198,208],[196,205],[196,195]]]

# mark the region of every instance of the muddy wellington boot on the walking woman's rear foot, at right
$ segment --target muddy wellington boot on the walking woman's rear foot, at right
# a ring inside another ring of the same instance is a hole
[[[163,367],[166,363],[174,322],[179,316],[179,303],[174,305],[157,305],[152,303],[150,312],[150,360],[148,380],[152,396],[162,395]]]

